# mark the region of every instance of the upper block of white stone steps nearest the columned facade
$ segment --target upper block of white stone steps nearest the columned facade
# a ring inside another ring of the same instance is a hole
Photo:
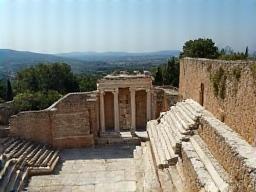
[[[188,142],[198,127],[203,108],[193,101],[179,102],[170,111],[161,113],[157,120],[149,121],[147,132],[158,168],[175,165],[181,156],[182,142]]]

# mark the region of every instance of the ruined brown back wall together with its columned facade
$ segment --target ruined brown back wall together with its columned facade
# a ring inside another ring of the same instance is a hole
[[[148,74],[108,75],[97,91],[70,93],[48,109],[18,113],[10,133],[57,148],[93,146],[122,131],[146,130],[147,121],[177,98],[176,90],[153,87]]]

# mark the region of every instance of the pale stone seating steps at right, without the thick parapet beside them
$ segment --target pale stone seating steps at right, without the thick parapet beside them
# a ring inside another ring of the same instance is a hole
[[[203,139],[209,137],[208,128],[202,128],[203,121],[209,121],[205,114],[201,105],[187,99],[162,113],[159,119],[148,122],[151,150],[163,191],[168,191],[168,186],[177,192],[237,191],[236,179],[224,169],[221,159],[214,156],[208,146],[210,140]]]

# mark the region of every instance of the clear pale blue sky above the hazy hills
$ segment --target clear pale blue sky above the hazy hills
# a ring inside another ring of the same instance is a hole
[[[256,50],[256,0],[0,0],[0,48],[44,53]]]

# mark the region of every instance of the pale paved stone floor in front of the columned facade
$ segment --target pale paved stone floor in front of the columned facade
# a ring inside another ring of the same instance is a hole
[[[30,192],[115,192],[136,191],[132,145],[69,149],[53,175],[34,176]]]

